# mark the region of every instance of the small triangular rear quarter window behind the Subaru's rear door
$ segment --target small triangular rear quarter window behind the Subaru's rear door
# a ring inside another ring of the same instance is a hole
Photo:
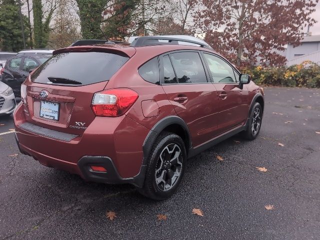
[[[145,62],[142,66],[140,66],[138,72],[144,80],[151,83],[159,84],[160,75],[158,57],[154,57],[151,60]]]

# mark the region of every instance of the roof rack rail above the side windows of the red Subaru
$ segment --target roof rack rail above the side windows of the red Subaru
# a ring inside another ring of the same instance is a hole
[[[178,35],[179,36],[179,35]],[[168,44],[179,44],[180,42],[187,42],[187,43],[193,43],[196,45],[199,45],[200,47],[212,49],[212,47],[207,44],[205,41],[202,41],[196,37],[194,37],[194,40],[187,39],[186,37],[190,36],[185,36],[181,35],[181,37],[171,37],[171,36],[139,36],[135,38],[130,46],[151,46],[151,45],[168,45]],[[199,41],[197,41],[197,39]],[[167,40],[167,41],[159,41],[159,40]]]

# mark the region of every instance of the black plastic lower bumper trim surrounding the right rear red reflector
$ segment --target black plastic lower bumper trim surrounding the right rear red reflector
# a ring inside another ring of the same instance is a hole
[[[106,172],[93,171],[90,166],[103,166]],[[129,178],[123,178],[117,172],[113,161],[107,156],[83,156],[78,161],[78,167],[81,170],[82,176],[85,180],[121,184],[130,183],[137,187],[142,187],[145,173],[145,165],[142,165],[140,172]]]

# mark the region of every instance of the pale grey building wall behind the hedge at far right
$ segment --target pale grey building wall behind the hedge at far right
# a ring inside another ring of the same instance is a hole
[[[293,47],[293,45],[288,45],[286,50],[286,59],[290,61],[294,57],[299,55],[308,54],[320,50],[320,42],[302,42],[301,45]]]

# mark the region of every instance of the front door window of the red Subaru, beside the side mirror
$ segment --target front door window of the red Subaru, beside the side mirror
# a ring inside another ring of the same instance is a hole
[[[203,53],[214,82],[236,82],[233,68],[220,57]]]

